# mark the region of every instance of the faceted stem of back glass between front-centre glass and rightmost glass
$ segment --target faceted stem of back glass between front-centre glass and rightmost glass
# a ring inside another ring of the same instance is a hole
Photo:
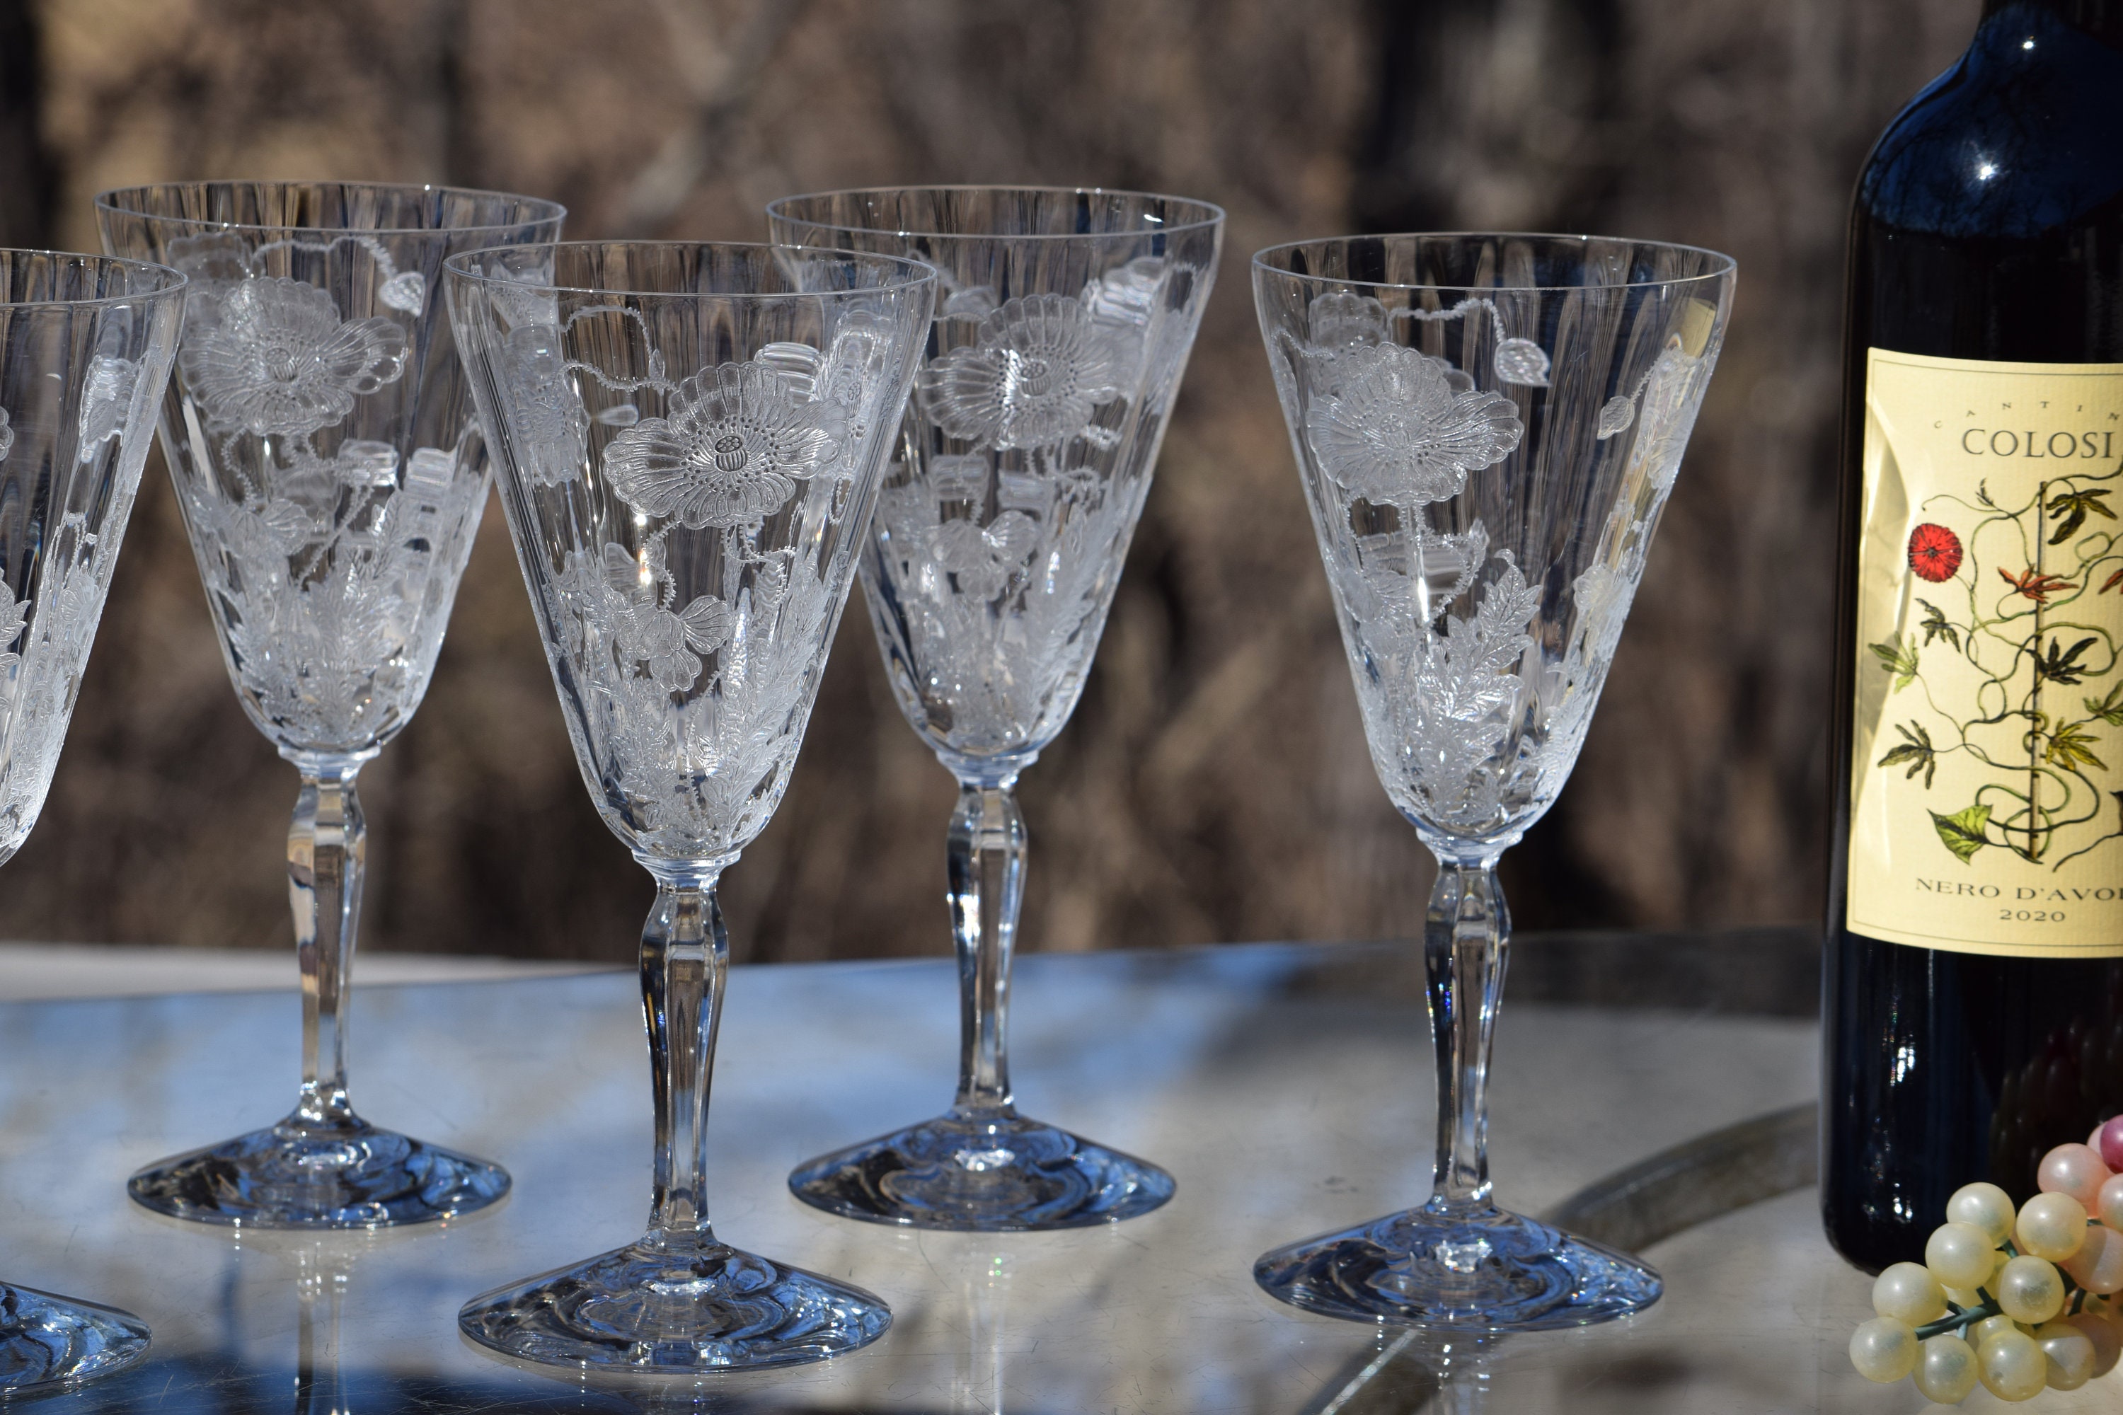
[[[951,938],[957,942],[962,1116],[1011,1110],[1011,955],[1025,897],[1025,817],[1017,776],[960,781],[949,834]]]

